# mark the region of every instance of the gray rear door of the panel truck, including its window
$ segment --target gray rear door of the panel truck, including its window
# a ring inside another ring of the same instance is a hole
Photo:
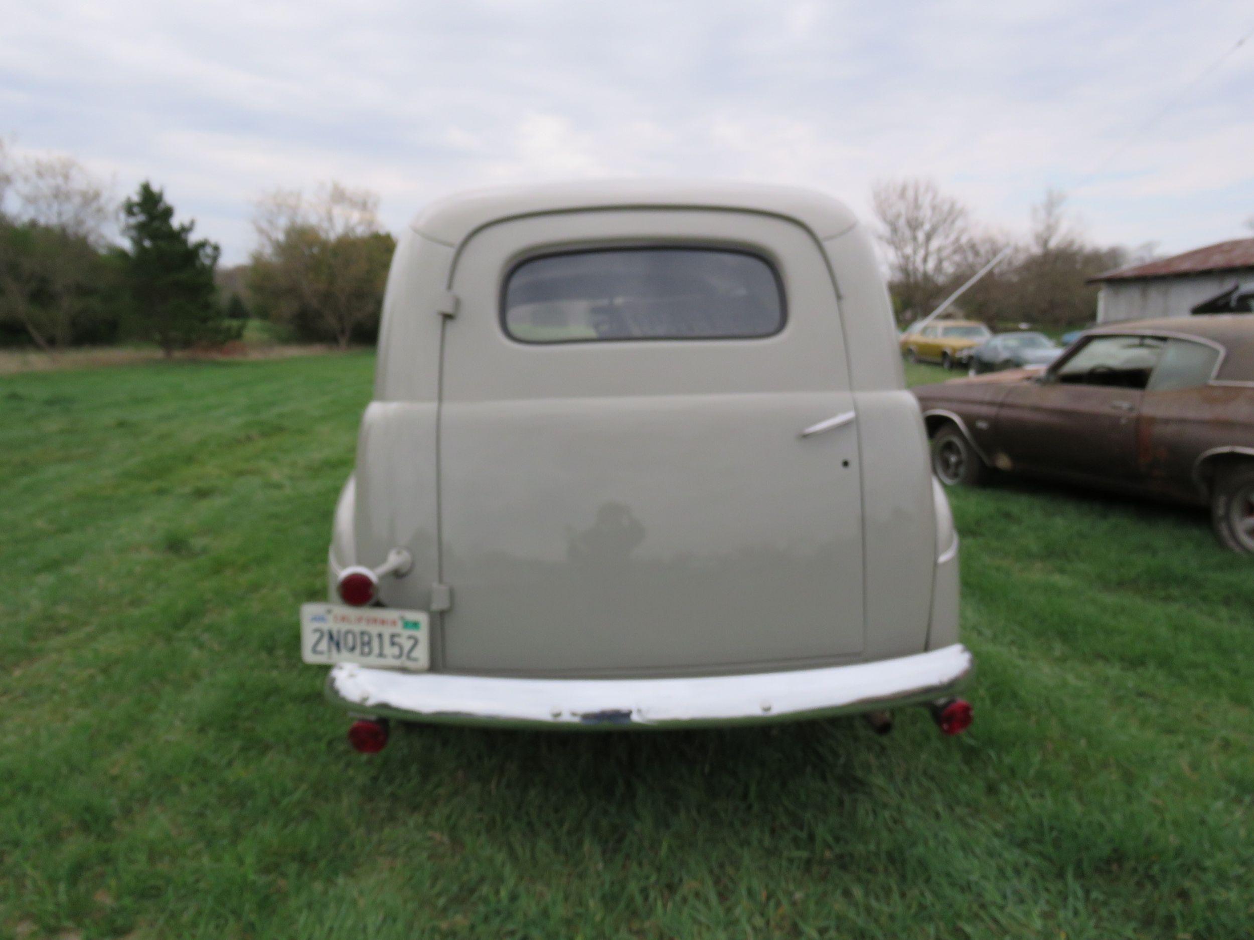
[[[681,209],[514,219],[470,237],[451,288],[444,669],[682,674],[861,650],[858,427],[808,232]]]

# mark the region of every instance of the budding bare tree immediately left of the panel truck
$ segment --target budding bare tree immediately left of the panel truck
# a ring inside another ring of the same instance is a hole
[[[253,216],[251,290],[275,318],[314,321],[346,348],[379,316],[394,243],[377,209],[374,193],[335,182],[310,198],[298,191],[263,197]]]

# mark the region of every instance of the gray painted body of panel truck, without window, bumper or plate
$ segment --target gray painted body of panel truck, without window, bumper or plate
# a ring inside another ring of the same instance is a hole
[[[611,246],[756,253],[782,281],[785,327],[505,335],[513,264]],[[433,672],[762,673],[958,640],[957,539],[888,296],[868,234],[824,196],[602,183],[440,203],[398,244],[374,397],[330,579],[408,549],[381,599],[429,609],[433,585],[451,589]]]

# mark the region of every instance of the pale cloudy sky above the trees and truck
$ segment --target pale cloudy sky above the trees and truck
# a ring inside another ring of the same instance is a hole
[[[607,175],[860,211],[932,177],[1011,233],[1056,185],[1095,239],[1160,251],[1254,216],[1254,40],[1180,97],[1251,0],[0,0],[0,137],[164,185],[226,262],[258,194],[331,178],[394,229],[455,189]]]

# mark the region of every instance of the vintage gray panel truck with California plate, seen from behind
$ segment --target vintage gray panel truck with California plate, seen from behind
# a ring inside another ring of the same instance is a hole
[[[301,610],[350,739],[929,706],[958,539],[864,227],[819,193],[586,183],[414,219]]]

